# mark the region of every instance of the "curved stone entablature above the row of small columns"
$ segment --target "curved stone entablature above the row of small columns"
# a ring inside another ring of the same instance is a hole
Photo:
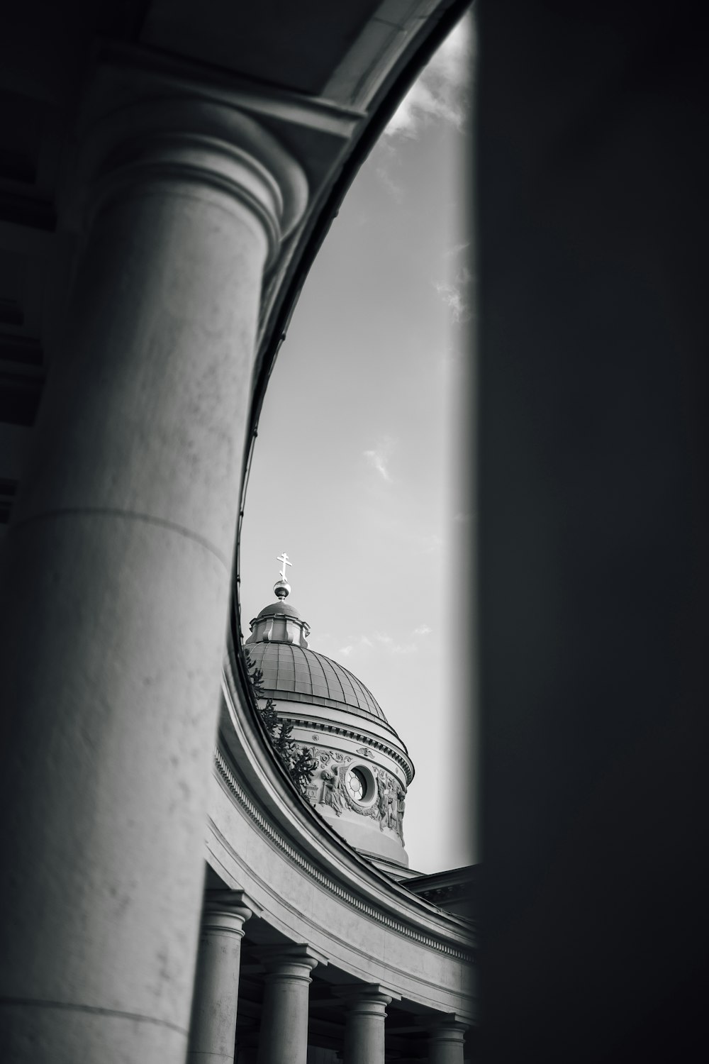
[[[321,951],[350,978],[472,1021],[472,926],[377,871],[296,791],[226,662],[207,861],[249,893],[263,925]]]

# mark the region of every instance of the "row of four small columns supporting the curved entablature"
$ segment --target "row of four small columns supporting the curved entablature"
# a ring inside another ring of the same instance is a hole
[[[188,1064],[233,1064],[243,925],[258,912],[242,891],[207,892],[195,982]],[[264,1001],[257,1064],[306,1064],[311,972],[327,959],[305,944],[261,946]],[[333,986],[344,1015],[343,1064],[384,1064],[387,1005],[401,1000],[379,984]],[[466,1026],[419,1017],[428,1064],[462,1064]]]

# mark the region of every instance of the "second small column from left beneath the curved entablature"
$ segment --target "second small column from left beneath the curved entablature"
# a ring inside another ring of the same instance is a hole
[[[258,1064],[306,1064],[310,971],[323,963],[308,946],[267,950]]]

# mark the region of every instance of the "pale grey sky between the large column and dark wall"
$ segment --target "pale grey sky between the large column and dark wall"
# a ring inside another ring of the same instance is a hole
[[[410,866],[477,859],[471,780],[473,514],[466,464],[473,35],[450,34],[362,165],[272,372],[241,533],[241,626],[288,599],[308,645],[369,687],[416,766]]]

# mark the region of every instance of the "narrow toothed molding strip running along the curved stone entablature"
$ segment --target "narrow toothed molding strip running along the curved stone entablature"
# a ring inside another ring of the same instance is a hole
[[[438,950],[441,953],[445,953],[456,960],[463,961],[467,964],[474,964],[472,950],[467,950],[462,947],[454,946],[451,943],[442,942],[439,938],[435,938],[433,935],[425,934],[418,928],[395,919],[393,916],[390,916],[389,913],[385,912],[384,909],[379,909],[370,902],[365,901],[362,898],[357,897],[351,891],[337,883],[334,879],[331,879],[330,876],[326,876],[320,868],[316,867],[313,862],[308,861],[307,858],[303,857],[303,854],[294,846],[292,846],[280,831],[275,829],[271,821],[257,808],[256,803],[252,801],[244,788],[234,776],[234,772],[231,770],[219,748],[215,750],[215,768],[217,775],[226,786],[226,789],[233,798],[236,799],[238,804],[243,809],[263,834],[265,834],[272,844],[282,850],[293,864],[298,865],[302,871],[310,876],[310,878],[316,880],[321,886],[336,895],[345,904],[352,907],[358,912],[364,913],[371,919],[376,920],[378,924],[390,928],[398,934],[405,935],[407,938],[412,938],[415,942],[419,942],[423,946]]]

